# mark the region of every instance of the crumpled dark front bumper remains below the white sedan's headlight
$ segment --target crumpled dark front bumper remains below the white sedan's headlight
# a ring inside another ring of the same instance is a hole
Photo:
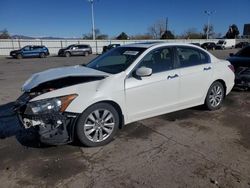
[[[24,93],[15,105],[15,112],[25,129],[36,128],[42,143],[50,145],[66,144],[73,141],[74,126],[79,114],[54,112],[50,114],[25,114],[30,96]]]

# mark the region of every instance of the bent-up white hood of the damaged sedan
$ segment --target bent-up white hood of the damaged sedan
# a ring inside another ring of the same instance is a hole
[[[38,85],[66,77],[107,77],[110,74],[91,69],[88,67],[76,65],[70,67],[61,67],[49,69],[43,72],[33,74],[23,85],[22,91],[29,92]]]

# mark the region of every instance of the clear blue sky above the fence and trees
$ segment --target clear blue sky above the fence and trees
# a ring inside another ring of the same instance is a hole
[[[96,0],[96,28],[110,37],[122,31],[143,34],[157,20],[168,17],[169,29],[182,34],[189,28],[202,31],[205,10],[216,11],[211,23],[223,35],[235,23],[240,33],[250,23],[250,0]],[[81,37],[91,32],[87,0],[1,0],[0,30],[28,36]]]

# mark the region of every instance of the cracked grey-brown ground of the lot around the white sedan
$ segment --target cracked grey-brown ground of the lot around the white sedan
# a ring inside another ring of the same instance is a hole
[[[0,187],[250,187],[249,92],[231,92],[218,111],[196,107],[129,124],[103,147],[41,147],[11,110],[21,85],[32,73],[94,57],[0,57]]]

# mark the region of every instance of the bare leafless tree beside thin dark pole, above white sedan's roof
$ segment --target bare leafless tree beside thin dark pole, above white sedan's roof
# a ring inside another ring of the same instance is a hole
[[[148,32],[154,39],[160,39],[166,30],[166,23],[164,20],[158,20],[148,28]]]

